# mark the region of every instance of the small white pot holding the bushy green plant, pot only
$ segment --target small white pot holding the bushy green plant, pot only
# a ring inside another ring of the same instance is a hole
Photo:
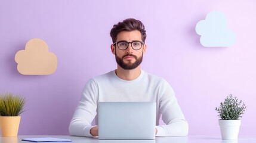
[[[238,139],[241,120],[218,120],[222,139]]]

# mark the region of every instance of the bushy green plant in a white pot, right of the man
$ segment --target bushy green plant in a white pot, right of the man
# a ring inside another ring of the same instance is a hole
[[[242,100],[238,100],[237,97],[233,97],[232,94],[227,96],[224,102],[220,103],[220,107],[216,107],[215,110],[218,112],[218,120],[221,131],[222,139],[238,139],[239,128],[242,117],[246,109],[245,104]]]

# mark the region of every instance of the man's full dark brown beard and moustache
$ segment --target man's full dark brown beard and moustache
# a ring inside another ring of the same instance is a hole
[[[115,54],[116,55],[116,54]],[[129,61],[128,64],[124,63],[124,58],[127,57],[127,56],[132,56],[135,58],[135,62],[134,63],[131,63],[131,61]],[[132,70],[132,69],[135,69],[136,67],[138,67],[141,62],[142,62],[142,59],[143,59],[143,53],[141,55],[141,57],[137,58],[136,55],[132,55],[132,54],[126,54],[124,55],[122,58],[119,58],[117,55],[116,55],[116,63],[118,63],[118,65],[120,67],[122,67],[123,69],[125,70]]]

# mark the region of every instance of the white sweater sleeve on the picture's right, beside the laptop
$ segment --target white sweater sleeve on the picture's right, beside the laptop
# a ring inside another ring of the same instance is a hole
[[[174,91],[164,80],[159,89],[159,110],[166,125],[156,126],[156,136],[187,136],[189,125],[178,105]]]

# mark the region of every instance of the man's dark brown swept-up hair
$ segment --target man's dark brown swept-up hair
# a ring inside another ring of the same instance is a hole
[[[122,31],[132,31],[139,30],[141,33],[141,39],[143,42],[146,40],[146,30],[144,24],[140,20],[135,20],[134,18],[128,18],[118,24],[113,25],[113,28],[110,31],[110,36],[112,38],[113,43],[116,42],[118,33]]]

